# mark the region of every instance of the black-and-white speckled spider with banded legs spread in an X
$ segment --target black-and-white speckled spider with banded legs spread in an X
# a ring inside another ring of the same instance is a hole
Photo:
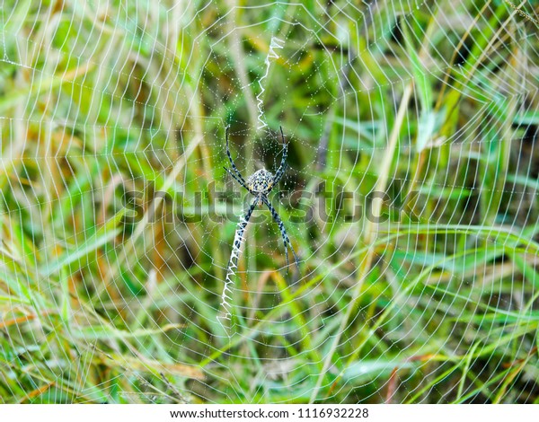
[[[283,157],[281,159],[281,163],[278,167],[278,170],[275,172],[275,175],[271,174],[271,172],[267,171],[266,169],[261,169],[261,170],[255,171],[249,178],[247,178],[247,180],[244,180],[242,173],[238,170],[238,168],[234,164],[234,160],[232,159],[232,154],[230,154],[230,147],[228,145],[228,127],[226,127],[226,155],[228,155],[228,161],[230,162],[232,170],[225,167],[225,171],[228,171],[228,173],[234,178],[234,180],[237,181],[241,186],[243,186],[244,189],[247,189],[247,191],[254,197],[254,200],[252,201],[251,206],[247,209],[247,212],[245,213],[245,215],[243,215],[243,218],[240,219],[240,223],[238,224],[238,228],[236,231],[236,237],[234,239],[233,248],[235,251],[239,251],[241,242],[243,239],[243,232],[245,231],[245,227],[247,226],[247,223],[249,223],[249,219],[251,218],[252,211],[254,211],[254,207],[256,207],[257,205],[259,207],[262,207],[262,204],[264,204],[266,207],[268,207],[268,209],[270,209],[271,216],[273,217],[275,222],[278,224],[278,229],[280,230],[283,243],[285,244],[285,251],[286,251],[286,257],[287,257],[287,271],[290,265],[288,261],[288,247],[290,247],[290,251],[292,251],[292,254],[294,255],[294,260],[296,261],[296,268],[299,272],[299,264],[298,264],[296,251],[294,251],[292,243],[290,243],[290,239],[288,239],[288,234],[287,234],[287,229],[285,229],[285,224],[283,224],[276,209],[271,205],[270,199],[268,198],[268,195],[270,195],[271,189],[273,189],[275,186],[278,185],[278,182],[282,179],[283,175],[285,174],[285,171],[287,170],[288,144],[287,142],[285,142],[285,135],[283,134],[283,128],[279,127],[279,129],[280,129],[284,149],[283,149]]]

